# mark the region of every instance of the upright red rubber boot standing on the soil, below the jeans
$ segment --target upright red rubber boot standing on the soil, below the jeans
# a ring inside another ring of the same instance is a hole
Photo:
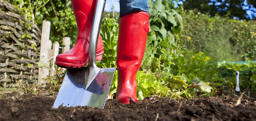
[[[130,103],[128,96],[137,100],[136,73],[138,72],[149,32],[149,14],[145,11],[133,11],[120,18],[117,67],[117,102]]]

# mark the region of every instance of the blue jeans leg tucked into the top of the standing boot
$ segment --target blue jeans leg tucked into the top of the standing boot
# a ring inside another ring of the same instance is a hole
[[[132,11],[148,11],[148,0],[120,0],[120,17]]]

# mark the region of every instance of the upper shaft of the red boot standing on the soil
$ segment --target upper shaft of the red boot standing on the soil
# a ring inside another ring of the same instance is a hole
[[[149,31],[148,20],[149,14],[144,11],[134,11],[120,18],[117,43],[117,67],[119,71],[124,71],[131,65],[139,69]]]

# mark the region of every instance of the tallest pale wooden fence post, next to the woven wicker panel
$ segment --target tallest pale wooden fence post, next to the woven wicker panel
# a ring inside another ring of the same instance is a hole
[[[51,22],[50,21],[43,21],[42,25],[42,35],[41,35],[41,43],[40,43],[40,63],[47,63],[48,61],[48,49],[49,49],[49,38],[50,38],[50,30],[51,30]],[[38,84],[45,83],[43,81],[43,77],[48,75],[46,72],[47,69],[39,68],[38,69]],[[42,73],[42,74],[41,74]]]

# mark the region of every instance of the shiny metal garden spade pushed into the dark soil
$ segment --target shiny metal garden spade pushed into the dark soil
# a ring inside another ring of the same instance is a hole
[[[92,106],[104,108],[117,68],[96,66],[96,50],[102,14],[106,0],[97,0],[89,45],[89,64],[80,69],[67,69],[53,108],[63,106]]]

